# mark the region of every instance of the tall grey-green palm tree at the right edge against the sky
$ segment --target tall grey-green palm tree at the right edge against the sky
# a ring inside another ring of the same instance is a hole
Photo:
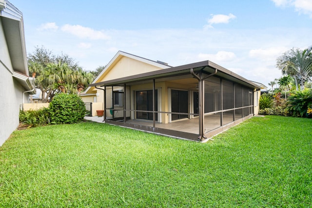
[[[312,46],[303,51],[292,48],[277,58],[276,66],[282,70],[283,75],[292,76],[296,86],[300,84],[300,89],[303,90],[304,83],[312,76]]]

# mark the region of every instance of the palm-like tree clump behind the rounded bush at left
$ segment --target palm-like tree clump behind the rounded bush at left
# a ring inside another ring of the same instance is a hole
[[[29,73],[36,76],[36,87],[42,92],[42,103],[50,102],[56,93],[75,94],[93,81],[93,75],[79,67],[66,54],[55,56],[43,46],[28,55]]]

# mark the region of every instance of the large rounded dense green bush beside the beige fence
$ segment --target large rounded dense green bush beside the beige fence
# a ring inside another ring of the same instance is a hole
[[[75,94],[55,95],[49,108],[53,124],[78,123],[83,120],[86,112],[83,101]]]

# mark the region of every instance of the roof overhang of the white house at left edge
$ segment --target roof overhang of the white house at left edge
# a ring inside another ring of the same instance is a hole
[[[14,71],[28,75],[22,13],[10,2],[0,0],[0,21]]]

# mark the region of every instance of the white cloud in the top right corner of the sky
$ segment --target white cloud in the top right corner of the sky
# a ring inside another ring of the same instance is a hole
[[[294,7],[295,11],[312,18],[312,0],[272,0],[277,7]]]

